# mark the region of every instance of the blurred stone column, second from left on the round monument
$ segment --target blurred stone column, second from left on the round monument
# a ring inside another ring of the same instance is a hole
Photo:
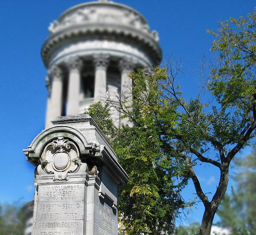
[[[79,57],[71,57],[67,61],[67,68],[69,70],[68,77],[68,93],[67,93],[67,114],[77,115],[79,114],[79,96],[80,96],[80,80],[81,69],[83,63]]]

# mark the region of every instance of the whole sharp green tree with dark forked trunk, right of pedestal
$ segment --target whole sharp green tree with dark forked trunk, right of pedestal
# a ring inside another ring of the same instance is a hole
[[[112,135],[130,176],[119,206],[125,234],[171,234],[174,215],[188,206],[179,192],[191,178],[205,208],[200,232],[209,235],[227,189],[230,162],[255,136],[256,12],[222,22],[218,33],[210,33],[216,37],[211,50],[218,63],[206,86],[214,105],[201,103],[200,94],[184,99],[175,85],[179,66],[172,63],[154,73],[132,74],[133,103],[120,99],[120,112],[134,123]],[[198,163],[219,170],[212,199],[194,171]]]

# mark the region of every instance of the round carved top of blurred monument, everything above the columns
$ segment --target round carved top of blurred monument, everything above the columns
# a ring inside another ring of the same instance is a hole
[[[162,59],[157,32],[150,31],[140,13],[119,3],[74,6],[50,24],[49,33],[41,50],[47,68],[70,55],[92,59],[96,52],[109,53],[114,60],[131,56],[143,67]]]

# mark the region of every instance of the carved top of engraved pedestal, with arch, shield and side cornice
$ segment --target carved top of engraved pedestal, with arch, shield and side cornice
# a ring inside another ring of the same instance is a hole
[[[38,167],[39,174],[44,174],[43,177],[49,178],[54,176],[54,179],[58,181],[68,180],[66,176],[73,175],[69,175],[70,171],[89,172],[84,161],[78,166],[80,158],[94,158],[97,162],[104,163],[111,174],[115,175],[117,181],[122,184],[127,183],[128,175],[118,163],[109,141],[89,115],[59,117],[54,125],[56,126],[41,132],[31,145],[23,150],[27,160]],[[78,126],[82,130],[75,128]],[[104,144],[93,142],[94,137],[91,138],[89,135],[97,136]],[[100,168],[93,169],[90,172],[93,174],[91,176],[95,178],[98,170],[100,173]]]

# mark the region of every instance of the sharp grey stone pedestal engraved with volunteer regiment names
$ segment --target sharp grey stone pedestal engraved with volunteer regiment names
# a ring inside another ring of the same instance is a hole
[[[117,235],[128,175],[89,115],[59,117],[23,151],[36,166],[32,235]]]

